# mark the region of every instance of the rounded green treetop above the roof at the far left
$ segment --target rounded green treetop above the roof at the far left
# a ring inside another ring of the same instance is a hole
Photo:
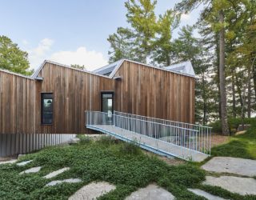
[[[18,45],[7,38],[0,36],[0,69],[10,70],[18,74],[30,75],[28,54],[19,49]]]

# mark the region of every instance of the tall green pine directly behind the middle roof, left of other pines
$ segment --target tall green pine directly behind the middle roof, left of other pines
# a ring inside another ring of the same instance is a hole
[[[154,39],[158,28],[154,14],[156,3],[151,0],[125,2],[126,18],[131,28],[119,27],[117,34],[111,34],[108,38],[112,49],[110,50],[110,62],[129,57],[147,63],[154,49]]]

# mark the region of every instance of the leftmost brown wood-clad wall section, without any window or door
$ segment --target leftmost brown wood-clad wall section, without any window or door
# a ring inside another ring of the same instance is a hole
[[[0,71],[0,134],[34,133],[34,80]]]

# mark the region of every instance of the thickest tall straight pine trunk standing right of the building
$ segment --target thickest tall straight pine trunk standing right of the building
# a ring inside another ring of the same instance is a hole
[[[224,24],[224,12],[220,10],[218,13],[219,22]],[[221,94],[221,110],[222,110],[222,134],[229,135],[229,127],[227,124],[226,111],[226,82],[225,82],[225,30],[224,27],[219,31],[219,86]]]

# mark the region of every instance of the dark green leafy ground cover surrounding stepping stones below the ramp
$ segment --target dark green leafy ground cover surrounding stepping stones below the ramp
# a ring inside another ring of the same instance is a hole
[[[106,181],[116,190],[100,199],[124,199],[140,187],[152,182],[169,190],[178,199],[203,199],[187,187],[202,182],[205,173],[189,163],[168,166],[155,156],[143,154],[134,144],[118,142],[108,137],[72,146],[54,146],[28,154],[22,160],[33,159],[27,166],[7,164],[0,166],[0,199],[68,199],[82,186],[93,181]],[[42,166],[36,174],[19,175],[22,170]],[[44,175],[69,166],[70,170],[50,180]],[[46,186],[52,180],[81,178],[80,183]]]

